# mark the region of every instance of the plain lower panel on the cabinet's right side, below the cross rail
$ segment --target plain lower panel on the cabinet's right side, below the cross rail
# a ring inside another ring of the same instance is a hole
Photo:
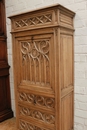
[[[72,130],[73,128],[73,92],[62,98],[61,103],[61,130]]]

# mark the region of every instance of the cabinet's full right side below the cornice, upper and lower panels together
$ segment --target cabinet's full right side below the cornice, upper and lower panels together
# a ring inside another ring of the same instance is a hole
[[[62,30],[60,42],[61,130],[73,128],[73,33]]]

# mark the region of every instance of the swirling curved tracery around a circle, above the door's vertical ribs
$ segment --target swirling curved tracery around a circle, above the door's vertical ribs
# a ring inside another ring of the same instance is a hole
[[[49,53],[49,40],[40,40],[33,42],[21,42],[21,53],[23,56],[23,60],[26,58],[32,59],[40,59],[40,56],[46,58],[49,61],[48,53]]]

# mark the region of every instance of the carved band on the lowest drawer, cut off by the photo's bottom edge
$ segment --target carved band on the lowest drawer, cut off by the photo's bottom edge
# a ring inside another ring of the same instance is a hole
[[[30,123],[25,122],[23,120],[20,120],[19,129],[20,130],[48,130],[48,129],[37,127],[35,125],[31,125]]]

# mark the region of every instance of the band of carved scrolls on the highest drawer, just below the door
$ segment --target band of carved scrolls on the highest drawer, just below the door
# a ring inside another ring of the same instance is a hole
[[[44,106],[47,108],[54,108],[54,98],[43,97],[29,93],[19,93],[19,101],[25,101],[34,105]]]

